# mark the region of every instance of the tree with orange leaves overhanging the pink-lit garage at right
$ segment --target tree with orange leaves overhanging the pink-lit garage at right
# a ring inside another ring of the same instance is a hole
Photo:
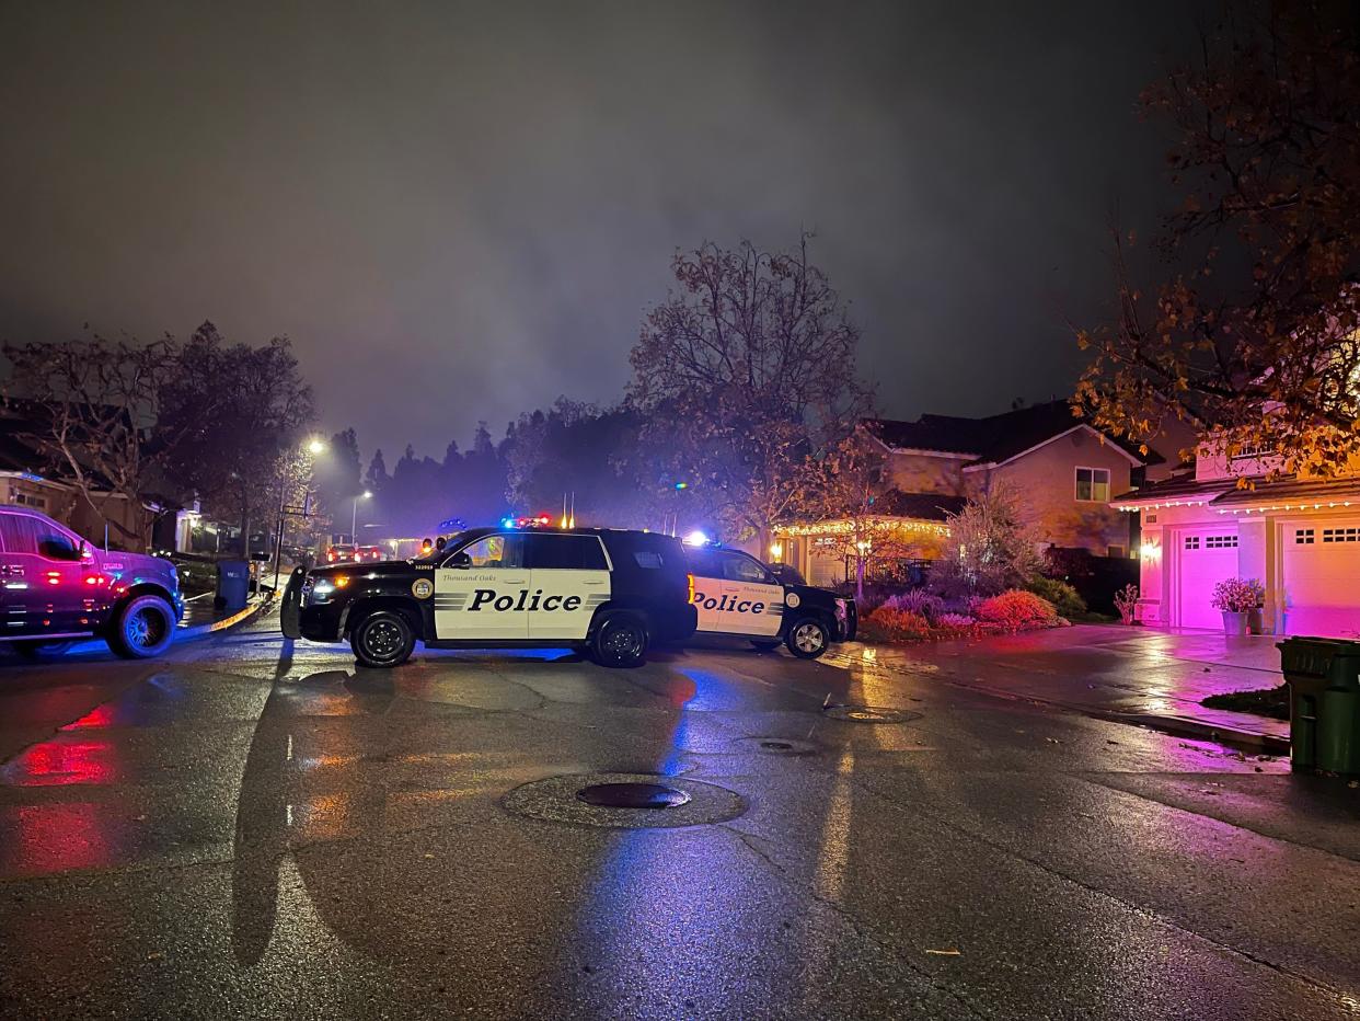
[[[1140,286],[1117,236],[1118,321],[1078,331],[1074,407],[1098,427],[1151,442],[1179,419],[1278,474],[1360,456],[1357,25],[1346,4],[1229,10],[1144,93],[1183,203],[1161,279]]]

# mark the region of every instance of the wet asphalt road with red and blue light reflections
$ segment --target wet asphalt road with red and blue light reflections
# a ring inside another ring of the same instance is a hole
[[[7,1018],[1360,1017],[1356,790],[868,660],[261,628],[5,662],[0,757]]]

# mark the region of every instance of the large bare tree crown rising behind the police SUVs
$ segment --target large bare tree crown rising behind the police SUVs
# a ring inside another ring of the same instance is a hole
[[[802,498],[809,455],[868,407],[860,332],[806,236],[792,253],[704,244],[672,270],[679,289],[630,355],[647,456],[734,538],[767,535]]]

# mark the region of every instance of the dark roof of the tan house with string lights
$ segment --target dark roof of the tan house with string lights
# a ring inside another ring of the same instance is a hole
[[[1073,417],[1066,400],[1050,400],[987,418],[921,415],[914,422],[866,418],[861,425],[870,436],[896,451],[925,451],[991,464],[1042,447],[1070,433],[1074,426],[1085,425],[1092,432],[1100,432]],[[1141,464],[1161,464],[1164,460],[1156,451],[1149,449],[1142,455],[1136,444],[1110,436],[1106,438]]]

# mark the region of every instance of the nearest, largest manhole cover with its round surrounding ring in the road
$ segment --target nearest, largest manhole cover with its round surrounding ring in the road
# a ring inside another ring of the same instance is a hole
[[[724,787],[654,773],[554,776],[514,788],[502,805],[534,820],[624,829],[703,826],[747,810]]]

